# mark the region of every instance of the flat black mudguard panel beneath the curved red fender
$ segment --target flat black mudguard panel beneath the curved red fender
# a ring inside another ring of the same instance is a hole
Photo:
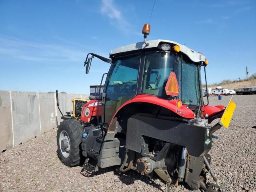
[[[142,136],[148,136],[187,148],[192,156],[199,157],[212,147],[212,136],[207,136],[207,129],[180,121],[156,119],[133,115],[128,119],[126,148],[141,152]]]

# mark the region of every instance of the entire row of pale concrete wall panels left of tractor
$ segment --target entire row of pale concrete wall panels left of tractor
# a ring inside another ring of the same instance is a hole
[[[84,94],[59,94],[62,113],[72,111],[72,98]],[[62,121],[55,93],[0,91],[0,152],[58,127]]]

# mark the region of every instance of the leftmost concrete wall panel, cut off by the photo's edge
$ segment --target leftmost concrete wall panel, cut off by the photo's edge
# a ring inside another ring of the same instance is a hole
[[[12,112],[9,91],[0,91],[0,152],[13,147]]]

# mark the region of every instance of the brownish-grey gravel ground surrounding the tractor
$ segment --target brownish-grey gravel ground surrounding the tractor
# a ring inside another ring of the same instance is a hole
[[[230,96],[210,97],[212,105],[227,105]],[[227,192],[256,192],[256,95],[234,96],[237,104],[228,129],[213,141],[212,167]],[[252,128],[254,127],[254,128]],[[0,191],[166,191],[159,179],[115,167],[96,174],[68,168],[56,154],[56,129],[0,154]],[[187,191],[184,185],[172,191]]]

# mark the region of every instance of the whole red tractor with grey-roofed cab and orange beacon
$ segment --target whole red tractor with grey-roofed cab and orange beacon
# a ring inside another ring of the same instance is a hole
[[[121,172],[157,174],[168,188],[186,182],[195,190],[221,190],[208,152],[213,133],[228,126],[235,104],[210,106],[208,97],[204,103],[200,71],[205,74],[205,56],[170,40],[146,41],[149,30],[145,24],[144,42],[114,49],[109,58],[87,55],[86,74],[94,57],[110,64],[110,70],[102,76],[103,93],[90,96],[80,118],[62,116],[59,158],[90,172],[119,166]],[[216,184],[207,182],[207,172]]]

